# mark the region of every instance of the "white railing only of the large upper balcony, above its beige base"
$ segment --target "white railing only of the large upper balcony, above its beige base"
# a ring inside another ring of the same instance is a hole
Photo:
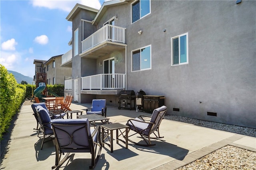
[[[125,43],[125,28],[106,24],[82,41],[82,52],[104,41]]]

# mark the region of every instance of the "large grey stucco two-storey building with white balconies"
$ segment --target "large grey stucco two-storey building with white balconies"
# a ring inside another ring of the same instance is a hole
[[[76,4],[65,93],[117,105],[123,88],[142,89],[165,96],[168,114],[256,128],[255,9],[236,0]]]

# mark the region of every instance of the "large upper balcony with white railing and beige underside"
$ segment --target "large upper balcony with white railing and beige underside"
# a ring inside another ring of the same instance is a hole
[[[125,29],[106,24],[82,41],[81,57],[98,58],[125,48]]]

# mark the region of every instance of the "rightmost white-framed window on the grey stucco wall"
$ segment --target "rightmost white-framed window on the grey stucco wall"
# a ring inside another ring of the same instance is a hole
[[[188,33],[172,37],[172,66],[188,64]]]

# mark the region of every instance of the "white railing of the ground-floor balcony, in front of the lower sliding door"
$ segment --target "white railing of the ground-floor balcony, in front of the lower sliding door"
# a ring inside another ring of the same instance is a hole
[[[125,74],[97,74],[82,77],[82,90],[123,88],[125,88]]]

